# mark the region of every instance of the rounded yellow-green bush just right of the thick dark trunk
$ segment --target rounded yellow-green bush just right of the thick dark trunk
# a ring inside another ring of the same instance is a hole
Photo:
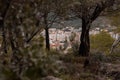
[[[107,32],[100,32],[96,35],[91,35],[91,49],[108,52],[114,39]]]

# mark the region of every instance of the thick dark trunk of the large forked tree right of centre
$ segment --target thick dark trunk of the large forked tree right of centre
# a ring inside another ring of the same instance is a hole
[[[90,24],[86,23],[85,19],[82,20],[82,33],[80,37],[79,54],[81,56],[89,56],[90,53],[90,39],[89,39]]]

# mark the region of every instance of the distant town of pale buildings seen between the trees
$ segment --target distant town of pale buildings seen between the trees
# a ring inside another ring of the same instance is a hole
[[[105,27],[105,28],[93,28],[90,30],[90,35],[99,34],[101,31],[108,32],[111,37],[114,39],[118,39],[119,34],[114,33],[114,29],[116,27]],[[42,31],[43,37],[45,37],[45,31]],[[81,28],[74,28],[74,27],[65,27],[62,29],[57,28],[50,28],[49,29],[49,38],[50,38],[50,47],[53,49],[63,49],[66,45],[68,46],[67,49],[71,48],[73,42],[80,42],[80,35],[81,35]],[[71,41],[71,38],[74,38]]]

